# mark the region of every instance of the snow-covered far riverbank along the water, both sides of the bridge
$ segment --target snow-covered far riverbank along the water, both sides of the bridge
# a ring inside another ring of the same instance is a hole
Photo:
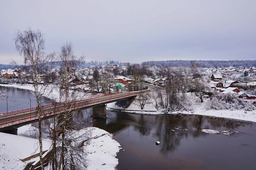
[[[15,87],[15,88],[22,88],[27,90],[34,91],[33,85],[30,84],[7,84],[3,85],[0,84],[0,86],[5,87]],[[59,92],[58,87],[56,85],[49,85],[47,87],[47,94],[44,94],[44,96],[51,98],[53,96],[53,99],[59,98]],[[52,91],[52,92],[51,92]],[[51,93],[49,93],[51,92]],[[51,96],[52,95],[52,96]],[[79,93],[80,98],[84,97],[86,94]],[[88,94],[87,94],[88,95]],[[222,118],[228,118],[228,119],[238,119],[243,121],[251,121],[256,122],[256,111],[244,111],[244,110],[206,110],[206,106],[209,103],[209,99],[204,99],[205,102],[201,103],[196,101],[195,99],[191,99],[189,107],[189,111],[174,111],[174,112],[168,112],[167,114],[195,114],[195,115],[204,115],[204,116],[215,116],[215,117],[222,117]],[[108,110],[112,111],[121,111],[121,112],[127,112],[127,113],[138,113],[138,114],[150,114],[150,115],[157,115],[157,114],[166,114],[165,111],[161,109],[156,109],[152,101],[151,104],[146,104],[144,109],[141,110],[140,106],[131,103],[131,105],[128,108],[123,109],[122,107],[119,107],[116,105],[115,102],[109,103],[107,105]]]

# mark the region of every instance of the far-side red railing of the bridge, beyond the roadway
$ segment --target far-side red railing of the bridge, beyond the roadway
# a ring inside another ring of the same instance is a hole
[[[134,92],[130,92],[130,93],[134,94]],[[112,95],[116,95],[116,94],[121,94],[121,92],[87,96],[87,97],[84,97],[82,99],[76,99],[75,102],[88,100],[88,99],[99,98],[99,97],[105,97],[105,96],[112,96]],[[65,102],[58,102],[58,103],[55,103],[55,104],[50,103],[50,104],[47,104],[47,105],[42,105],[42,108],[51,107],[51,106],[56,105],[56,104],[61,105],[61,104],[64,104],[64,103]],[[27,111],[35,111],[35,110],[37,110],[37,106],[31,107],[31,108],[23,108],[23,109],[18,109],[18,110],[15,110],[15,111],[0,113],[0,117],[1,116],[8,116],[8,115],[11,115],[11,114],[23,113],[23,112],[27,112]]]

